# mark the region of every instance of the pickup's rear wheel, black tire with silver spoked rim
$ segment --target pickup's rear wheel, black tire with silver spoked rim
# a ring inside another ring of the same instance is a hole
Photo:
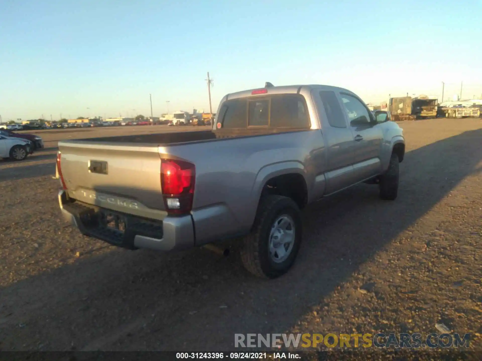
[[[302,223],[296,203],[281,195],[264,196],[252,231],[244,238],[241,260],[258,277],[279,277],[295,262],[301,239]]]

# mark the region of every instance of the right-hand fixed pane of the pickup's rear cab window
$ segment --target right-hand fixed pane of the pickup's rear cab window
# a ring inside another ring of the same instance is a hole
[[[303,97],[297,94],[273,96],[269,127],[309,129],[308,109]]]

